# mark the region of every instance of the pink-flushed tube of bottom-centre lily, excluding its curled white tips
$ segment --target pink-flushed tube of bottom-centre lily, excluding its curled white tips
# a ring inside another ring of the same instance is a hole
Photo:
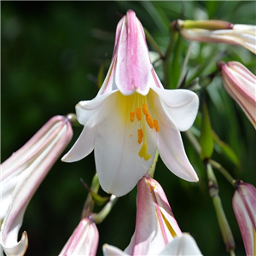
[[[157,255],[181,234],[160,184],[143,177],[137,184],[136,230],[125,253]]]

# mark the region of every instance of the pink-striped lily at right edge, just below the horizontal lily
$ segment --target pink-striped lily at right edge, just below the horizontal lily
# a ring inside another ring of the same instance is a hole
[[[236,61],[220,62],[225,90],[238,103],[256,129],[256,77]]]

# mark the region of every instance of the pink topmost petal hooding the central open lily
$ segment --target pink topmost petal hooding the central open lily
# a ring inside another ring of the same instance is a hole
[[[118,89],[124,95],[131,95],[135,91],[147,95],[152,79],[152,64],[143,26],[131,10],[123,19],[117,47],[114,80]]]

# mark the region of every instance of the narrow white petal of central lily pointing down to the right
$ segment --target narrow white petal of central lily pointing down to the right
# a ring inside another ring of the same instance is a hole
[[[162,122],[160,122],[159,126],[157,148],[159,149],[161,160],[177,177],[189,182],[197,182],[198,177],[185,153],[180,132]]]

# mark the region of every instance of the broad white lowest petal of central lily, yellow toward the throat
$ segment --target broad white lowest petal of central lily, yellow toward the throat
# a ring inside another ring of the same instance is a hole
[[[96,172],[103,190],[122,196],[131,191],[148,172],[156,151],[156,133],[146,128],[151,158],[144,160],[138,154],[142,147],[137,143],[139,126],[136,122],[131,123],[130,114],[127,113],[131,102],[119,92],[113,103],[119,108],[114,109],[97,127]]]

